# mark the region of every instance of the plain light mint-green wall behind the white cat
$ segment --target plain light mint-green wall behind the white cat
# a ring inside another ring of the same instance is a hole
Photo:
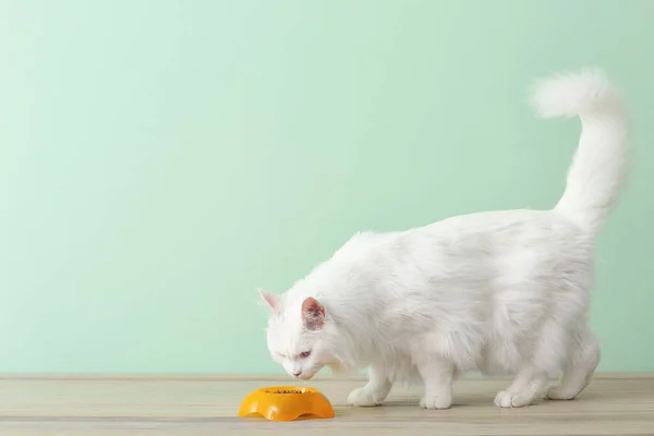
[[[359,230],[557,201],[525,104],[604,66],[635,172],[600,244],[603,370],[654,371],[654,2],[3,1],[0,372],[272,372],[256,287]]]

